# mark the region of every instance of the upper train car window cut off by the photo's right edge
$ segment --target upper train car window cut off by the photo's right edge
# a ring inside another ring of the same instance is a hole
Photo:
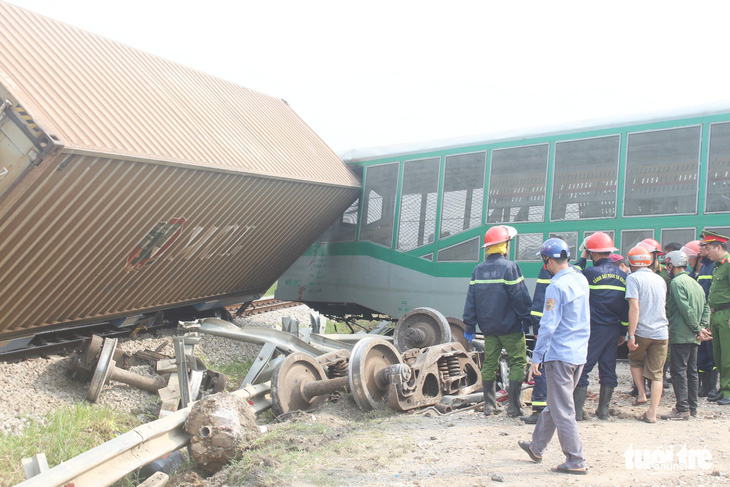
[[[730,123],[713,123],[710,125],[705,212],[728,211],[730,211]]]

